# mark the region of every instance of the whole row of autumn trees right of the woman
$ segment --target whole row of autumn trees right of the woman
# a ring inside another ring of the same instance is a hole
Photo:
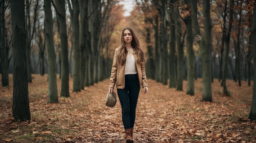
[[[136,0],[136,4],[132,16],[140,13],[143,22],[133,23],[143,24],[138,31],[145,36],[149,78],[164,85],[169,79],[169,87],[177,90],[183,90],[186,79],[186,93],[194,95],[194,79],[201,72],[195,67],[200,64],[202,100],[209,102],[215,73],[219,73],[225,95],[230,95],[226,86],[230,73],[241,86],[240,65],[245,67],[250,85],[254,0]]]

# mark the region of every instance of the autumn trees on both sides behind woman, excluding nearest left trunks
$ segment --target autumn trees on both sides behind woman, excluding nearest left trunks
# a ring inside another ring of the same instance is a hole
[[[254,77],[252,67],[252,15],[254,0],[53,0],[56,74],[61,78],[61,96],[81,91],[110,76],[115,48],[121,30],[132,27],[148,61],[146,74],[170,88],[194,95],[193,81],[203,78],[211,101],[211,82],[218,78],[223,93],[229,95],[226,79],[241,86],[241,80]],[[11,0],[1,0],[2,86],[8,86],[13,73],[11,49]],[[45,44],[44,0],[25,0],[28,82],[31,74],[49,73],[49,45]],[[206,7],[208,6],[208,7]],[[132,8],[130,15],[124,15]],[[194,15],[194,17],[193,17]],[[191,26],[193,25],[193,27]],[[204,87],[205,86],[205,87]],[[203,97],[204,97],[203,95]]]

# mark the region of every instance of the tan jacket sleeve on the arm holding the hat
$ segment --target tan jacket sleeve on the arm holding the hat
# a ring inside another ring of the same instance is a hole
[[[113,58],[109,87],[114,88],[116,81],[117,81],[117,49],[115,50],[115,54],[114,54],[114,58]]]

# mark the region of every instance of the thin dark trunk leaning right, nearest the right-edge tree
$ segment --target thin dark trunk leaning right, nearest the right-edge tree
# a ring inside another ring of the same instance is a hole
[[[230,1],[230,10],[229,10],[229,29],[226,33],[225,38],[225,65],[222,76],[222,86],[223,86],[223,94],[230,96],[229,91],[227,90],[226,78],[227,78],[227,64],[229,61],[229,43],[230,43],[230,35],[232,30],[232,21],[233,21],[233,11],[234,11],[234,0]]]

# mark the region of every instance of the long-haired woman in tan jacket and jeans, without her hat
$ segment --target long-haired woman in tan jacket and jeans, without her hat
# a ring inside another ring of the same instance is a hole
[[[132,143],[132,132],[140,87],[148,93],[145,71],[146,55],[134,31],[126,27],[122,31],[121,44],[115,50],[109,83],[109,93],[117,84],[117,94],[122,107],[122,121],[126,143]]]

